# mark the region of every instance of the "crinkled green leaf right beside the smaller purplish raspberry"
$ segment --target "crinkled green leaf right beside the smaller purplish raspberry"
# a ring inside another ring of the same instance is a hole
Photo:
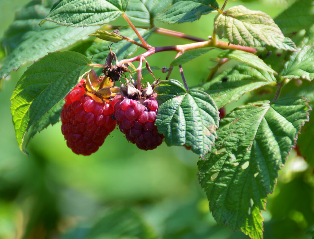
[[[177,80],[160,81],[155,87],[160,103],[155,124],[171,145],[192,146],[203,157],[214,145],[219,112],[213,99],[201,90],[185,90]]]

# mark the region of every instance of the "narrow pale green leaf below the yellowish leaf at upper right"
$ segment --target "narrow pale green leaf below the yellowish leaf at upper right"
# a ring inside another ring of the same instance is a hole
[[[272,68],[270,68],[268,65],[266,65],[266,63],[262,59],[260,59],[258,56],[250,52],[244,52],[244,51],[239,51],[239,50],[229,50],[229,51],[221,53],[219,57],[235,59],[237,61],[244,62],[247,65],[252,66],[254,68],[276,74],[276,72]]]

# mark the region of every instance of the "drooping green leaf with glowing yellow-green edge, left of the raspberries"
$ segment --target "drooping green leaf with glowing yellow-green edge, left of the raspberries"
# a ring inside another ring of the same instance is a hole
[[[91,70],[90,63],[77,52],[54,52],[24,72],[11,97],[16,138],[22,151],[24,135],[32,125],[31,136],[49,123],[56,122],[53,112],[58,109],[54,106]]]

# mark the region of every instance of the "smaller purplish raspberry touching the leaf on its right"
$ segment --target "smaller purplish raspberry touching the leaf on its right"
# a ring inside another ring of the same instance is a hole
[[[154,125],[158,111],[155,98],[150,97],[142,104],[119,95],[111,101],[111,106],[120,131],[139,149],[155,149],[162,143],[164,135],[158,133]]]

